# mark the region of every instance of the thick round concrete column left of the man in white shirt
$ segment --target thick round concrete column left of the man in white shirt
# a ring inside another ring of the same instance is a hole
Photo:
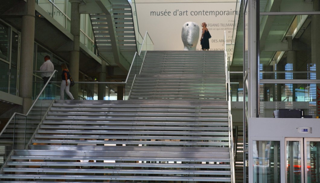
[[[36,2],[28,0],[25,8],[27,13],[22,16],[19,74],[19,96],[23,98],[23,114],[26,114],[32,105]]]

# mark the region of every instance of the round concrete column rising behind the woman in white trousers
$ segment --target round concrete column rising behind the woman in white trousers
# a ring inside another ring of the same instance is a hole
[[[79,51],[80,51],[80,0],[69,0],[71,3],[71,34],[73,35],[73,50],[70,51],[70,74],[74,81],[79,81]],[[70,88],[70,92],[75,99],[78,97],[78,84]]]

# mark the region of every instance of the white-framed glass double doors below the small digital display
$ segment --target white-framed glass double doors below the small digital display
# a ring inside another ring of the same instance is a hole
[[[285,138],[286,182],[320,183],[320,138]]]

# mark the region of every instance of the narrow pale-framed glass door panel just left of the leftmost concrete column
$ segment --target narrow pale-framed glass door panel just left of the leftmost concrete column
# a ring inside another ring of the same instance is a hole
[[[18,57],[19,57],[19,35],[12,32],[11,65],[10,65],[10,94],[17,94]]]

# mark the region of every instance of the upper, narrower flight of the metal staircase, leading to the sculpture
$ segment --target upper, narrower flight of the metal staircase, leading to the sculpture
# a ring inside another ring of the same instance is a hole
[[[148,51],[130,94],[130,100],[226,97],[223,51]]]

